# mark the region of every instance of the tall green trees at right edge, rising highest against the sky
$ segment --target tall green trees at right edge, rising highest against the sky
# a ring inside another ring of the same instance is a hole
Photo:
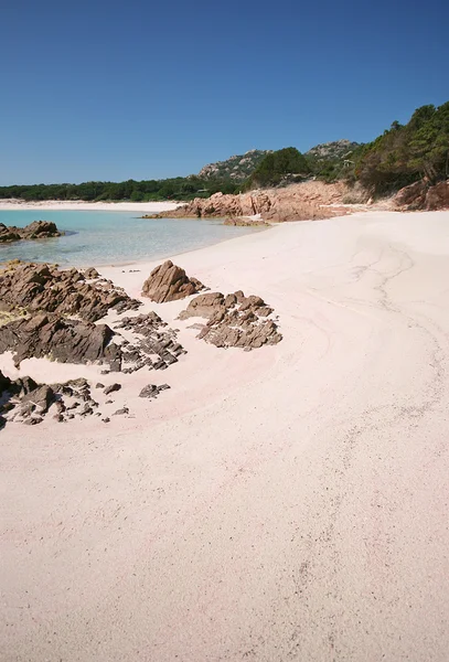
[[[397,191],[423,178],[430,184],[449,177],[449,102],[421,106],[406,125],[387,131],[354,152],[352,179],[374,195]]]

